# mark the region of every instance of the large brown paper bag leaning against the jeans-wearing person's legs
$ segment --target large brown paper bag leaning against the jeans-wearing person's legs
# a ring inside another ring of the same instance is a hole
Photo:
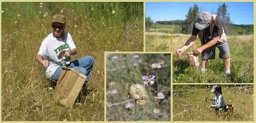
[[[61,104],[72,108],[86,78],[86,75],[76,71],[74,68],[67,68],[63,65],[55,87],[54,99],[61,100]]]

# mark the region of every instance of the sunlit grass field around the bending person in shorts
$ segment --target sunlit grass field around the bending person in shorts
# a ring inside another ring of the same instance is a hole
[[[189,67],[186,52],[195,51],[201,46],[197,38],[195,44],[185,51],[181,57],[175,52],[189,39],[190,35],[166,33],[146,33],[146,51],[173,52],[173,82],[174,83],[226,83],[222,59],[218,57],[216,48],[215,60],[209,60],[207,71],[201,73],[200,69]],[[230,69],[233,83],[253,83],[253,35],[228,36],[231,55]],[[199,62],[202,60],[199,55]]]

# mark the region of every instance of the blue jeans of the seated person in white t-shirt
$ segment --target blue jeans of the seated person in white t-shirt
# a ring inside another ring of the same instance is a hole
[[[66,65],[67,67],[74,68],[75,70],[85,74],[87,78],[85,79],[85,82],[83,84],[83,87],[85,87],[88,83],[88,79],[91,77],[91,72],[93,71],[94,67],[94,58],[91,56],[86,56],[83,58],[79,58],[77,60],[74,60],[70,62],[69,65]],[[54,74],[51,77],[51,81],[58,81],[59,76],[61,74],[62,67],[58,67],[57,70],[54,72]]]

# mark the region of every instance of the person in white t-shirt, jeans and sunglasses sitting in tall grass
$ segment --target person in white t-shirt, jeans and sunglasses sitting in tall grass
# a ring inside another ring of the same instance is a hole
[[[36,60],[43,65],[46,78],[58,81],[62,65],[72,67],[87,75],[83,87],[88,83],[94,66],[94,58],[86,56],[71,62],[71,56],[77,54],[77,49],[70,33],[65,32],[66,17],[54,15],[52,19],[53,32],[42,42]]]

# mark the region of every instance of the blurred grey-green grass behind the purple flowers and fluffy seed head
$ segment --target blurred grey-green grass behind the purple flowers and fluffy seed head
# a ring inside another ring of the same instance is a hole
[[[138,55],[138,58],[134,56]],[[170,54],[107,54],[107,121],[170,121]],[[161,63],[161,68],[152,69],[152,64]],[[143,84],[142,76],[155,76],[154,84]],[[135,99],[126,96],[132,85],[141,84],[147,91],[146,104],[135,104]],[[162,92],[164,98],[155,102]],[[134,104],[129,109],[126,104]],[[137,105],[137,106],[135,106]],[[155,113],[154,109],[159,109]]]

